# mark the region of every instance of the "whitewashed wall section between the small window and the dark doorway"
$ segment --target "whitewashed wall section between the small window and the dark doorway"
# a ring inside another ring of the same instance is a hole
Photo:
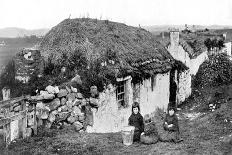
[[[135,88],[140,88],[137,101],[140,103],[141,114],[151,114],[157,107],[167,109],[169,102],[170,72],[157,74],[154,76],[153,90],[151,78],[137,84]],[[134,88],[134,89],[135,89]]]

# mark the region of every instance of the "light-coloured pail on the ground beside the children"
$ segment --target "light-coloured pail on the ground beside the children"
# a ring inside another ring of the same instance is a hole
[[[134,126],[125,126],[123,127],[122,133],[122,140],[124,145],[131,145],[133,143],[133,136],[134,136]]]

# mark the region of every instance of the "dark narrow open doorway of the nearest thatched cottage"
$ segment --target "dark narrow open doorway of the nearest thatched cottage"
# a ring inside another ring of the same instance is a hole
[[[171,70],[170,72],[170,87],[169,87],[169,92],[170,92],[170,96],[169,96],[169,104],[168,107],[173,107],[173,108],[177,108],[177,104],[176,104],[176,95],[177,95],[177,84],[175,81],[175,70]]]

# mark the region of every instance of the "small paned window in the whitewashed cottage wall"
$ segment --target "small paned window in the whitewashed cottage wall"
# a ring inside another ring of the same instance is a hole
[[[118,82],[116,96],[119,106],[125,107],[125,81]]]

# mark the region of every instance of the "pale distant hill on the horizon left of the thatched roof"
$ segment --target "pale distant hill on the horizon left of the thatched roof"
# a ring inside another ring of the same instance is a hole
[[[17,27],[7,27],[0,29],[0,37],[2,38],[16,38],[16,37],[24,37],[30,35],[36,36],[44,36],[49,29],[34,29],[34,30],[27,30],[23,28]]]

